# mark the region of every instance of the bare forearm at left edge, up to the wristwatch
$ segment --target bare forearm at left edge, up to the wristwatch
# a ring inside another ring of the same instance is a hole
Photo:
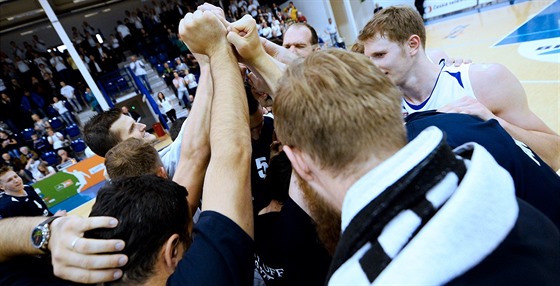
[[[0,220],[0,262],[20,255],[39,255],[31,245],[31,232],[45,217],[14,217]]]

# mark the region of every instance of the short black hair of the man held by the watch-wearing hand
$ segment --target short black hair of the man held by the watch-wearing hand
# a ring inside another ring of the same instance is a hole
[[[183,186],[155,175],[117,180],[99,191],[90,217],[112,216],[119,225],[88,231],[85,237],[125,241],[122,253],[128,263],[116,283],[140,284],[152,276],[161,248],[173,234],[188,249],[192,220],[186,196]]]

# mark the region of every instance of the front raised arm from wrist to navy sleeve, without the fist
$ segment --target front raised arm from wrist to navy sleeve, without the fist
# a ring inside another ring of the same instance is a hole
[[[249,111],[237,60],[231,49],[210,58],[214,80],[210,148],[203,209],[217,210],[253,237],[249,182]],[[220,81],[217,82],[216,79]]]

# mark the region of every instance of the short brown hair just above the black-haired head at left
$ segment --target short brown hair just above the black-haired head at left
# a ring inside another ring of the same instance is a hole
[[[111,180],[155,174],[160,166],[157,150],[138,138],[128,138],[105,154],[105,168]]]

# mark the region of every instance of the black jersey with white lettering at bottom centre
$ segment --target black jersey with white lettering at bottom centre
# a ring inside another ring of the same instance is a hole
[[[324,285],[331,256],[291,198],[255,218],[255,267],[266,285]]]

